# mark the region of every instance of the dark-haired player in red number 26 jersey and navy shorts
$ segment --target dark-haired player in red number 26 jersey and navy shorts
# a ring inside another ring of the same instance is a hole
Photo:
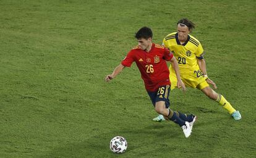
[[[156,112],[162,114],[166,120],[172,120],[174,123],[177,123],[182,128],[186,138],[188,138],[197,117],[192,114],[186,115],[169,109],[170,81],[166,61],[170,61],[174,67],[177,76],[177,87],[182,88],[184,91],[186,90],[179,75],[177,60],[168,49],[159,44],[152,43],[152,36],[153,33],[150,28],[140,28],[135,35],[139,45],[130,50],[121,64],[114,69],[113,73],[106,76],[105,81],[112,80],[122,69],[130,67],[132,62],[135,62],[140,70],[145,88],[153,106],[155,106]]]

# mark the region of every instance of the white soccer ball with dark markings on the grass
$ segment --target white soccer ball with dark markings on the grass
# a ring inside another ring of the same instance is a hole
[[[127,141],[122,136],[115,136],[113,139],[111,139],[109,148],[114,153],[125,152],[127,149]]]

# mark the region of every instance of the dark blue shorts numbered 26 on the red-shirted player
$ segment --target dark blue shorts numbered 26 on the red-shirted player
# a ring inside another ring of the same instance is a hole
[[[170,93],[170,85],[160,86],[157,91],[147,91],[148,96],[150,96],[151,102],[153,106],[155,106],[156,102],[164,101],[165,107],[168,108],[170,106],[170,101],[168,99]]]

